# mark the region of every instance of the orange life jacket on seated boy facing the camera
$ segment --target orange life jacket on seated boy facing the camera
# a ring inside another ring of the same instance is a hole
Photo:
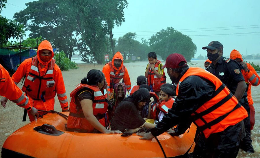
[[[168,101],[161,101],[159,103],[156,103],[152,107],[151,118],[154,120],[159,120],[158,115],[159,115],[160,111],[162,111],[164,113],[168,113],[168,109],[172,108],[174,101],[175,101],[174,98],[170,98]]]

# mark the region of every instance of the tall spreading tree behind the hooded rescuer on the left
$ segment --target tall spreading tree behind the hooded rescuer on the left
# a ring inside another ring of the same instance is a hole
[[[81,45],[76,25],[70,23],[75,14],[68,15],[70,6],[63,0],[39,0],[25,4],[26,9],[14,14],[14,18],[31,31],[30,37],[42,36],[55,47],[62,45],[60,49],[71,56],[78,45]]]

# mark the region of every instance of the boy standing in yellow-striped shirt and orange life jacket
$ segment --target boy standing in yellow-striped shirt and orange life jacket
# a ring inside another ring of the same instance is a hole
[[[155,52],[148,53],[147,57],[149,63],[145,69],[145,77],[148,79],[151,92],[155,92],[156,95],[159,96],[161,85],[166,83],[166,76],[162,68],[163,65],[161,61],[157,60]]]

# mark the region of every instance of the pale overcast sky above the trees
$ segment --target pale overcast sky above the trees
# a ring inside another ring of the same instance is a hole
[[[12,19],[14,13],[26,8],[25,3],[29,1],[8,0],[1,15]],[[128,0],[128,3],[125,22],[113,30],[115,38],[127,32],[136,32],[138,41],[142,38],[148,40],[161,29],[172,26],[192,38],[197,46],[195,57],[200,54],[205,56],[206,51],[201,48],[211,41],[224,45],[224,55],[233,49],[243,55],[246,55],[246,50],[247,55],[260,53],[259,0]]]

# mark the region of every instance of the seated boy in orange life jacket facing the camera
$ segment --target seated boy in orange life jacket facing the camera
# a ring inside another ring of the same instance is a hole
[[[172,108],[175,101],[174,99],[174,86],[170,83],[163,84],[160,88],[159,103],[152,107],[151,118],[157,121],[161,121],[164,114],[168,113],[168,110]]]

